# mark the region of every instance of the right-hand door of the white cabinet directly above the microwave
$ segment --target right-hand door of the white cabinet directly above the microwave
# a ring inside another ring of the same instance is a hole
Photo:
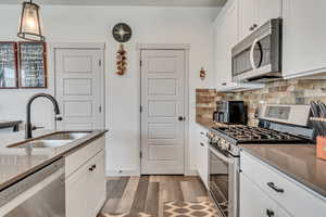
[[[258,0],[258,25],[281,17],[281,0]]]

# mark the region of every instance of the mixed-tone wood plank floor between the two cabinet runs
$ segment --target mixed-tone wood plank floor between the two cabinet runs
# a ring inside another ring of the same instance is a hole
[[[108,179],[108,201],[102,213],[147,213],[161,217],[164,202],[208,200],[208,192],[197,177],[117,177]]]

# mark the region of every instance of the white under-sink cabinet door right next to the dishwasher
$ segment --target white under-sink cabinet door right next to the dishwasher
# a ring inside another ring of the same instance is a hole
[[[88,165],[80,167],[65,181],[65,203],[67,217],[91,217],[88,208],[89,187]]]

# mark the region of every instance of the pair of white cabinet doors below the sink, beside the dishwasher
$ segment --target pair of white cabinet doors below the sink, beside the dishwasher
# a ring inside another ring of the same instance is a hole
[[[85,164],[66,177],[66,217],[96,217],[100,212],[106,199],[104,157],[104,149],[85,156]]]

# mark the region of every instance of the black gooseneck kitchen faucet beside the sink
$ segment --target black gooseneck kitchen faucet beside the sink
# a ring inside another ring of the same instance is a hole
[[[29,100],[27,102],[27,106],[26,106],[25,139],[32,139],[33,126],[32,126],[32,123],[30,123],[30,105],[34,102],[34,100],[36,100],[37,98],[47,98],[47,99],[49,99],[53,103],[55,115],[60,114],[58,101],[52,95],[47,94],[47,93],[37,93],[37,94],[33,95],[32,98],[29,98]]]

